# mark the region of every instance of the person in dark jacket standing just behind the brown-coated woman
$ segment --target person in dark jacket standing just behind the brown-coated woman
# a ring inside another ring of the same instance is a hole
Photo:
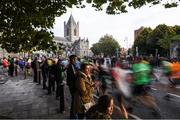
[[[70,110],[70,119],[75,119],[76,116],[73,111],[73,106],[74,106],[74,93],[76,92],[76,87],[75,87],[75,81],[76,81],[76,60],[77,56],[76,55],[71,55],[69,56],[69,65],[66,70],[67,74],[67,85],[69,87],[69,91],[71,94],[71,110]]]

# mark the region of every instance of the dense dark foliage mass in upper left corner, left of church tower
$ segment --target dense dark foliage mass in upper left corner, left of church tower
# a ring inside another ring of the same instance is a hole
[[[8,52],[55,49],[53,27],[55,16],[66,12],[67,1],[1,0],[1,47]]]

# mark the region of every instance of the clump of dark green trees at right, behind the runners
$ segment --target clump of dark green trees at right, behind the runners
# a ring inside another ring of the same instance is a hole
[[[134,41],[133,51],[138,47],[140,55],[158,54],[167,56],[169,54],[169,47],[175,36],[179,34],[179,26],[167,26],[165,24],[158,25],[154,30],[144,28],[137,39]],[[144,54],[146,53],[146,54]]]

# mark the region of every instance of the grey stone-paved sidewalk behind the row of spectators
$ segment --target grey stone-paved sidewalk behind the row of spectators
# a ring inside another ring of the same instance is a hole
[[[42,85],[33,82],[32,77],[9,77],[0,84],[0,118],[24,119],[68,119],[70,108],[70,94],[65,87],[65,113],[60,114],[59,100],[55,93],[46,95],[47,90]]]

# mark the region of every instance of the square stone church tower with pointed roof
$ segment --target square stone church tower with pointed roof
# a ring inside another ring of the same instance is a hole
[[[72,14],[69,17],[67,24],[64,21],[64,37],[70,42],[79,39],[79,22],[75,22]]]

